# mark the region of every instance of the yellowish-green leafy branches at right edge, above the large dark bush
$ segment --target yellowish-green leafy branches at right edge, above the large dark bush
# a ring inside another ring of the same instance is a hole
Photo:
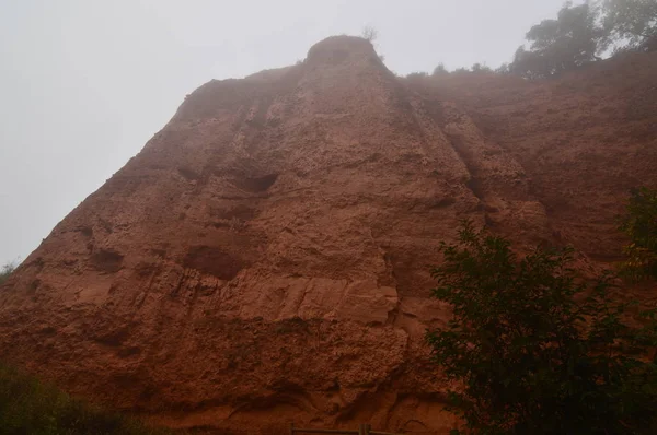
[[[635,280],[657,279],[657,190],[642,187],[632,191],[620,228],[631,239],[623,272]]]

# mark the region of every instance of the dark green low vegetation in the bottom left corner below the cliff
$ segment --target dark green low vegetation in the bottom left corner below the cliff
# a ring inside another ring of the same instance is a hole
[[[0,365],[0,434],[165,434],[136,420],[72,399],[14,368]]]

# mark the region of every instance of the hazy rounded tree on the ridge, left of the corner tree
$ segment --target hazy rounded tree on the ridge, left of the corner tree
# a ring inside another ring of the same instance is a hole
[[[511,72],[528,79],[557,75],[598,59],[603,31],[597,25],[593,8],[567,3],[556,20],[544,20],[527,33],[529,50],[518,48]]]

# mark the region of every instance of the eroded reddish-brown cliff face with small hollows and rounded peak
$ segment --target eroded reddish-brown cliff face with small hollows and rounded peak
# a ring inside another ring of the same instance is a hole
[[[471,219],[520,249],[575,244],[591,270],[618,252],[616,181],[657,183],[657,136],[633,133],[657,110],[592,117],[574,143],[562,126],[557,154],[537,126],[555,101],[564,118],[581,108],[568,98],[629,110],[598,108],[612,89],[657,102],[655,77],[604,78],[627,62],[579,72],[591,90],[480,78],[472,94],[476,78],[408,83],[341,36],[211,81],[1,289],[0,357],[172,426],[447,432],[423,344],[449,316],[428,297],[440,240]]]

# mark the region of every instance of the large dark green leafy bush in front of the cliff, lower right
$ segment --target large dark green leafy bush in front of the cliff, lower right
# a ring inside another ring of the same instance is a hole
[[[610,280],[569,268],[572,251],[518,259],[507,239],[465,222],[433,294],[452,319],[428,331],[436,363],[462,389],[451,410],[480,434],[656,433],[655,311],[623,321]],[[647,355],[648,349],[652,354]],[[454,432],[456,433],[456,432]]]

